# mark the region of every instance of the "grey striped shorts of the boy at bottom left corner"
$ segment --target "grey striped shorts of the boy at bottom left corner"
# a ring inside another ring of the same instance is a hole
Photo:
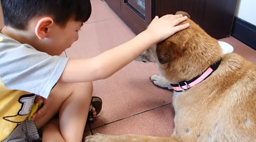
[[[34,121],[26,119],[2,142],[33,142],[40,139]]]

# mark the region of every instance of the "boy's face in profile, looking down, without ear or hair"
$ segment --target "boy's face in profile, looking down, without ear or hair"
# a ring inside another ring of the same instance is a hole
[[[47,38],[44,39],[46,46],[44,52],[50,55],[60,55],[64,50],[71,47],[78,40],[78,31],[83,22],[69,20],[66,26],[59,27],[56,24],[50,29]]]

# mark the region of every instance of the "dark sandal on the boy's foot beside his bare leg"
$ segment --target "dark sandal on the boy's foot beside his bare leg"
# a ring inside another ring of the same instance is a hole
[[[88,112],[87,122],[91,122],[94,120],[92,107],[95,108],[96,116],[100,114],[100,111],[102,109],[102,99],[100,99],[100,97],[92,97],[90,110]]]

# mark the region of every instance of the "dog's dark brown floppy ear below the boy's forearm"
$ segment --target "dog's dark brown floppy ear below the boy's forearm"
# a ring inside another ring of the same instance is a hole
[[[160,64],[165,64],[173,60],[173,48],[175,44],[164,40],[157,44],[156,54]]]

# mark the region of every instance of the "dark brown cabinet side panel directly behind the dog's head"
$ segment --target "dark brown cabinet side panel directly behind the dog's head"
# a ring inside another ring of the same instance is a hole
[[[237,0],[155,0],[156,15],[184,11],[213,38],[230,36]]]

